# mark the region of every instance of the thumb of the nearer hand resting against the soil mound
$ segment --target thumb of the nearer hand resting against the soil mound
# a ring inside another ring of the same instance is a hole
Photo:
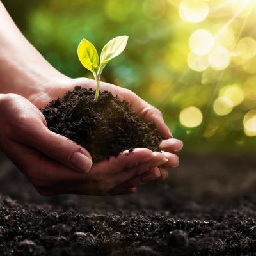
[[[90,153],[74,141],[50,131],[43,124],[40,127],[33,127],[33,132],[30,131],[27,137],[28,146],[36,148],[59,163],[78,172],[90,171],[92,167]]]

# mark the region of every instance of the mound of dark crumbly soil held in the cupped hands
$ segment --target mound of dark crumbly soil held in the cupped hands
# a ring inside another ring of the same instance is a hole
[[[48,128],[86,148],[93,162],[118,156],[124,150],[149,148],[160,151],[163,137],[154,123],[145,123],[131,111],[126,101],[102,92],[94,102],[92,89],[76,86],[63,98],[44,109]]]

